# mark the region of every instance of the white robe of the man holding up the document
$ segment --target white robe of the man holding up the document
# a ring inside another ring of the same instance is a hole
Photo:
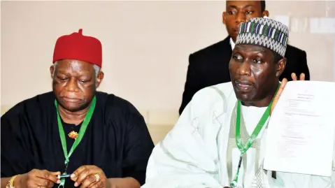
[[[231,82],[197,92],[177,124],[152,151],[143,188],[229,187],[240,157],[236,143],[231,145],[229,142],[235,139],[231,138],[231,134],[235,134],[235,130],[231,129],[235,123],[231,117],[236,113],[236,101]],[[241,107],[245,131],[249,135],[265,110]],[[272,172],[262,168],[266,128],[263,127],[255,140],[256,144],[243,157],[238,187],[334,187],[334,167],[333,178],[283,172],[276,172],[276,179],[272,178]],[[242,132],[241,126],[241,136]],[[234,147],[231,152],[229,147]]]

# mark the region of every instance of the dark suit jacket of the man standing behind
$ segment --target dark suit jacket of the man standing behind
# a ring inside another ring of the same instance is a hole
[[[179,114],[183,112],[187,103],[191,101],[193,95],[200,89],[222,82],[230,82],[229,61],[232,50],[229,40],[230,37],[228,36],[223,41],[190,55]],[[305,51],[292,45],[287,45],[285,57],[287,58],[287,63],[280,80],[283,80],[283,78],[287,78],[289,81],[292,80],[291,73],[296,73],[298,76],[301,73],[305,73],[305,79],[310,79]]]

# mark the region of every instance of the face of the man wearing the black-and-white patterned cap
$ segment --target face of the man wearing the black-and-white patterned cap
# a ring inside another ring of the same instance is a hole
[[[229,62],[232,85],[238,100],[254,104],[278,85],[285,59],[275,62],[273,52],[257,45],[236,45]]]

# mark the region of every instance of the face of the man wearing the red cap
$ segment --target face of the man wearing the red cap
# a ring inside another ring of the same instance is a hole
[[[73,59],[63,59],[55,69],[50,67],[52,89],[60,106],[71,112],[90,105],[102,77],[93,65]]]

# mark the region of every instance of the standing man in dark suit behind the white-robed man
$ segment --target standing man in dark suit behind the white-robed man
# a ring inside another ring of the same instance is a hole
[[[247,22],[252,17],[264,16],[269,16],[269,12],[265,10],[265,1],[227,1],[226,11],[222,13],[222,22],[226,25],[229,36],[223,41],[190,55],[179,114],[200,89],[222,82],[230,82],[229,60],[238,34],[238,25],[241,22]],[[304,73],[305,80],[310,80],[305,51],[287,45],[285,57],[287,64],[280,80],[283,78],[292,80],[292,73],[296,75]]]

